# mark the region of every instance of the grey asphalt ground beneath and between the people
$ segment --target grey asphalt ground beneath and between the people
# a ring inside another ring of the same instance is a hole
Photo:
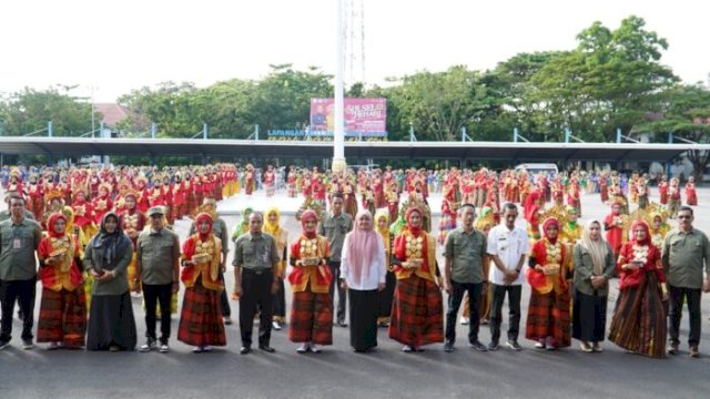
[[[657,198],[653,191],[652,200]],[[694,226],[710,233],[710,190],[700,188],[700,205],[696,207]],[[300,224],[290,216],[293,200],[283,194],[266,198],[257,194],[230,198],[220,211],[230,229],[236,224],[235,209],[245,204],[257,209],[271,204],[284,207],[283,219],[294,238]],[[437,204],[434,196],[433,204]],[[435,207],[435,206],[433,206]],[[604,217],[608,207],[598,195],[582,198],[582,219]],[[436,226],[438,218],[435,217]],[[523,225],[521,218],[518,223]],[[671,222],[672,224],[672,222]],[[176,223],[184,238],[187,221]],[[440,255],[439,255],[440,260]],[[230,258],[231,262],[231,258]],[[226,274],[227,287],[233,282]],[[613,284],[613,283],[612,283]],[[39,288],[39,287],[38,287]],[[286,293],[290,301],[288,288]],[[39,308],[40,289],[37,307]],[[446,301],[446,294],[444,294]],[[286,329],[272,332],[275,354],[254,350],[239,354],[239,304],[232,301],[235,324],[226,326],[227,346],[210,354],[193,354],[175,339],[170,354],[92,352],[83,350],[45,350],[38,345],[22,350],[16,318],[12,346],[0,351],[0,399],[14,398],[702,398],[710,389],[710,296],[703,295],[701,358],[690,359],[684,341],[688,317],[681,324],[681,354],[666,359],[630,355],[605,342],[601,354],[579,350],[572,340],[570,348],[557,351],[534,349],[524,337],[529,287],[524,287],[520,344],[523,350],[504,346],[495,352],[477,352],[467,347],[467,326],[457,325],[457,345],[452,354],[443,345],[430,345],[418,354],[402,352],[400,345],[379,330],[378,348],[371,354],[355,354],[349,347],[349,330],[335,326],[334,345],[321,354],[298,355],[296,345],[287,339]],[[180,301],[182,301],[182,291]],[[505,309],[505,308],[504,308]],[[133,299],[139,330],[143,341],[145,324],[141,299]],[[613,303],[609,303],[607,325]],[[39,310],[36,310],[36,318]],[[176,335],[179,316],[172,321]],[[37,323],[36,323],[37,326]],[[504,311],[503,331],[507,328]],[[257,327],[254,327],[256,335]],[[487,326],[479,338],[489,341]],[[256,338],[254,338],[256,340]]]

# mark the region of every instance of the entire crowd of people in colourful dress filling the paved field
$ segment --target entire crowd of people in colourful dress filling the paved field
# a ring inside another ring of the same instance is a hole
[[[505,346],[521,350],[527,283],[524,337],[536,348],[569,347],[575,338],[581,350],[601,351],[608,338],[649,357],[677,354],[687,300],[689,354],[699,356],[710,243],[692,225],[692,180],[683,205],[677,180],[660,180],[655,203],[648,176],[613,172],[387,167],[323,173],[217,164],[12,168],[0,177],[7,180],[8,204],[0,214],[0,349],[10,345],[16,304],[22,346],[34,346],[39,280],[37,341],[48,349],[166,352],[182,284],[176,337],[195,352],[226,345],[229,297],[239,300],[243,355],[252,351],[255,319],[257,346],[266,352],[275,350],[272,330],[284,325],[304,354],[332,345],[333,326],[348,321],[357,352],[376,348],[384,328],[405,352],[436,342],[453,351],[462,304],[469,346],[497,350],[506,297]],[[280,211],[271,207],[244,209],[230,235],[216,203],[242,188],[244,195],[260,188],[267,197],[280,188],[287,196],[302,195],[301,232],[290,236]],[[428,197],[437,190],[442,216],[435,231]],[[610,212],[580,224],[581,196],[594,193]],[[172,225],[185,216],[193,223],[180,239]],[[527,228],[516,225],[519,216]],[[676,228],[668,225],[671,218]],[[232,289],[224,283],[230,256]],[[617,277],[619,295],[607,329]],[[131,293],[143,297],[146,337],[140,346]],[[487,344],[478,337],[484,325],[490,328]]]

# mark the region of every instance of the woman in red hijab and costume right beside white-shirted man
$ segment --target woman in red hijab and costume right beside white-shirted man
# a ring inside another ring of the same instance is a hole
[[[555,217],[542,222],[542,234],[530,249],[526,272],[531,289],[525,337],[535,340],[538,349],[555,350],[571,341],[566,280],[571,254],[557,239],[559,222]]]

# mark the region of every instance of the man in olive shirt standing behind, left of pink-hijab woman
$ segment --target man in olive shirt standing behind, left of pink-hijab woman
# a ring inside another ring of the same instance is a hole
[[[351,215],[343,213],[343,194],[333,194],[333,211],[325,216],[318,226],[318,234],[325,236],[331,245],[331,258],[328,266],[333,279],[331,279],[331,301],[334,301],[335,290],[337,289],[337,309],[335,324],[339,327],[347,327],[345,323],[345,308],[347,306],[347,291],[336,282],[341,280],[341,253],[343,252],[343,243],[345,235],[353,229],[353,218]]]

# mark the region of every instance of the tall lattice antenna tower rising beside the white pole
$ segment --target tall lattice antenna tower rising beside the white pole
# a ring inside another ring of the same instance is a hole
[[[346,0],[344,13],[345,82],[365,83],[365,0]]]

